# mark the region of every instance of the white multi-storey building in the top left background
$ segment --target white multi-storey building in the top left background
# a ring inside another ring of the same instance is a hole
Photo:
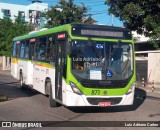
[[[0,2],[0,18],[10,18],[15,20],[17,16],[29,22],[34,28],[41,29],[46,23],[46,19],[41,15],[48,9],[47,3],[42,3],[40,0],[33,0],[30,5],[17,5]]]

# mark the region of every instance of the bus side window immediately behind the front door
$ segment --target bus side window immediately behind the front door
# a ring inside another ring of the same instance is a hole
[[[55,41],[51,40],[51,38],[49,38],[47,44],[46,59],[47,61],[55,62]]]

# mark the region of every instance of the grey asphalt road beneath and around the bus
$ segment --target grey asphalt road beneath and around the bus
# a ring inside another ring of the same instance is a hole
[[[149,94],[142,89],[136,89],[135,102],[133,106],[106,108],[67,108],[60,106],[57,108],[50,108],[48,97],[31,89],[19,89],[18,85],[18,81],[13,79],[10,74],[0,72],[0,96],[4,95],[8,98],[8,101],[0,102],[0,121],[160,121],[160,94]],[[52,127],[52,129],[53,128],[54,127]],[[56,127],[56,129],[63,128]],[[66,128],[69,130],[75,130],[75,127]],[[132,129],[132,127],[129,128]],[[156,129],[155,127],[153,128]],[[138,129],[153,128],[138,127]],[[51,128],[46,127],[45,129]],[[119,128],[76,128],[76,130],[79,129],[116,130]],[[123,127],[121,129],[125,130],[128,128]]]

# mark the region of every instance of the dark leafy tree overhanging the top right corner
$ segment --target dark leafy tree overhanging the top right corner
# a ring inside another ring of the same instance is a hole
[[[109,13],[120,17],[127,28],[152,39],[160,39],[160,1],[106,0]]]

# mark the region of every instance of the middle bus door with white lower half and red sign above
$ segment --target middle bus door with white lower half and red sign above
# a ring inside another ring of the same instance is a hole
[[[33,68],[34,68],[34,52],[35,52],[35,44],[36,44],[36,39],[32,38],[29,41],[29,60],[31,60],[30,65],[28,65],[28,75],[29,75],[29,83],[33,85]]]

